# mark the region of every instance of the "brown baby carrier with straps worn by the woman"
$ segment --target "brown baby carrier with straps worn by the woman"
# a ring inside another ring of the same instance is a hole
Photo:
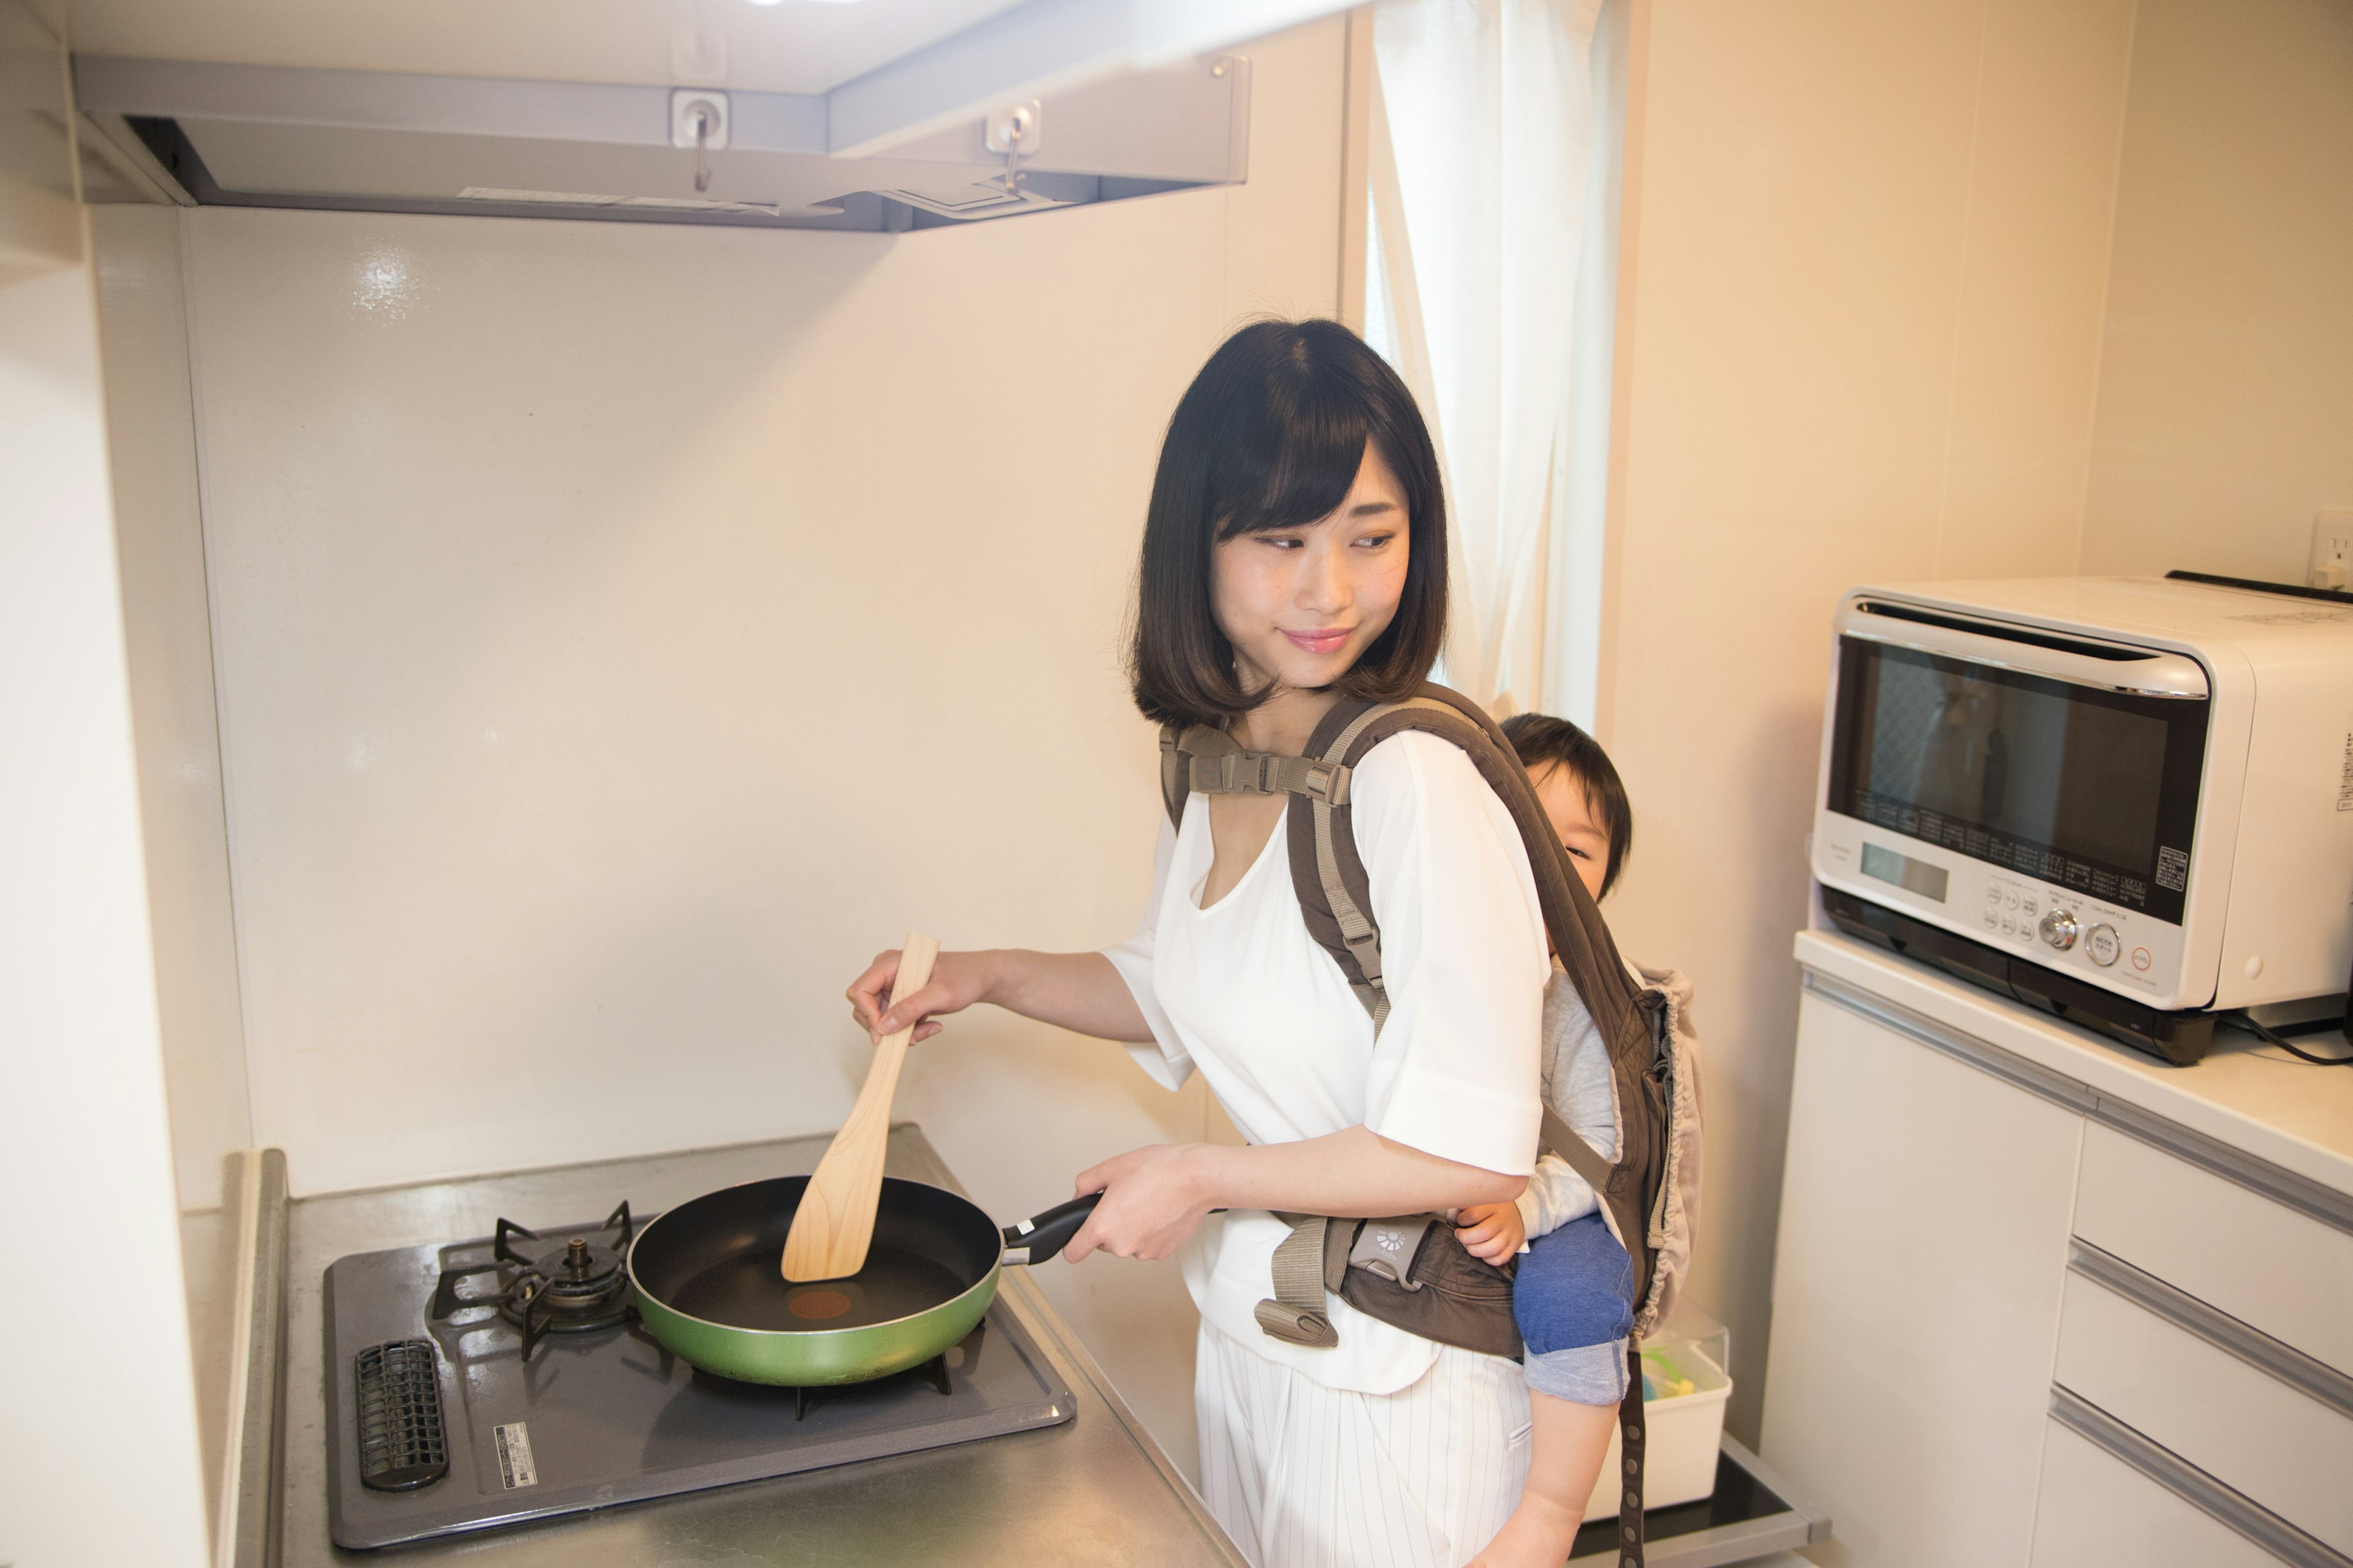
[[[1480,778],[1511,809],[1553,954],[1609,1046],[1619,1157],[1605,1161],[1551,1107],[1541,1150],[1558,1154],[1600,1197],[1602,1218],[1633,1260],[1633,1340],[1626,1401],[1619,1406],[1624,1493],[1619,1559],[1642,1563],[1642,1363],[1640,1340],[1666,1316],[1692,1260],[1699,1218],[1699,1060],[1680,987],[1631,969],[1609,940],[1593,896],[1537,802],[1527,769],[1504,731],[1468,698],[1426,684],[1402,703],[1344,701],[1325,715],[1304,757],[1247,752],[1207,726],[1160,731],[1160,795],[1169,823],[1184,823],[1191,792],[1287,795],[1292,886],[1308,933],[1339,964],[1374,1034],[1388,1023],[1381,933],[1372,919],[1372,882],[1358,856],[1348,783],[1377,743],[1405,729],[1440,736],[1464,750]],[[1445,1215],[1327,1220],[1282,1215],[1289,1239],[1275,1251],[1273,1298],[1259,1302],[1259,1328],[1292,1345],[1337,1345],[1325,1295],[1409,1333],[1499,1356],[1520,1354],[1511,1316],[1513,1269],[1480,1262]]]

